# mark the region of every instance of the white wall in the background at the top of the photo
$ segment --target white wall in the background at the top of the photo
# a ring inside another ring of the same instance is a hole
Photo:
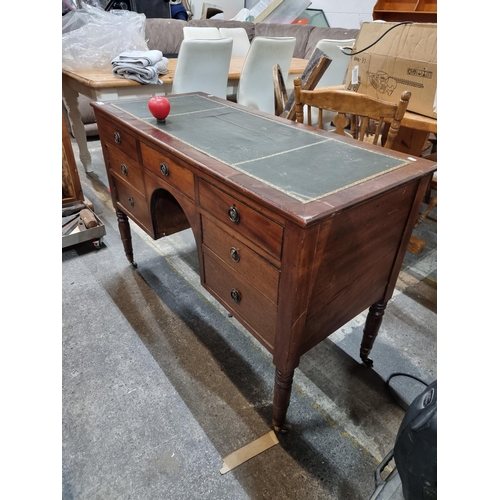
[[[194,19],[201,17],[204,0],[191,0]],[[244,0],[211,0],[222,7],[224,19],[231,19],[244,8]],[[310,9],[323,9],[328,23],[333,28],[359,28],[365,21],[373,21],[376,0],[312,0]]]

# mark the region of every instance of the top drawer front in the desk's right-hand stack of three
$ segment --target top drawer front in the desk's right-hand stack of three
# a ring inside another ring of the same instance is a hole
[[[241,236],[281,259],[283,226],[257,212],[235,197],[200,179],[200,206]]]

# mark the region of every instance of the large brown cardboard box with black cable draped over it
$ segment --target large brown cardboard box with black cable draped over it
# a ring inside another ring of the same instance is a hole
[[[389,102],[408,90],[408,111],[437,118],[437,24],[363,23],[353,54],[347,89]]]

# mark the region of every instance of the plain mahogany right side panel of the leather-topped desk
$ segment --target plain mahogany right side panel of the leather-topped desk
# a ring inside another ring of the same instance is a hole
[[[418,185],[405,184],[322,223],[302,353],[386,295],[405,230],[415,222],[410,219]]]

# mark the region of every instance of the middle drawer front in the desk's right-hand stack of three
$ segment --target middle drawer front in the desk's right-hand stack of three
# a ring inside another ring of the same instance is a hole
[[[278,303],[278,269],[206,217],[202,218],[202,232],[206,247],[269,300]]]

